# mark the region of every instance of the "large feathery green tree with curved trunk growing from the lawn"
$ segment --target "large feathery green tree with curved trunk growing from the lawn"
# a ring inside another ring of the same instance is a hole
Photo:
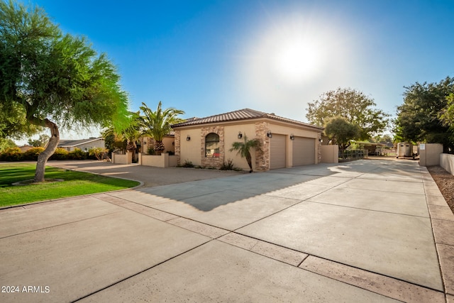
[[[43,9],[0,1],[0,106],[50,130],[36,182],[44,180],[60,127],[122,121],[128,101],[118,81],[106,55],[98,55],[85,38],[63,34]]]

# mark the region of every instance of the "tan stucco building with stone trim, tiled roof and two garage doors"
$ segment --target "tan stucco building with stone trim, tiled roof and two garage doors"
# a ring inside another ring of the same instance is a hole
[[[258,138],[261,150],[250,150],[253,170],[273,170],[321,162],[323,128],[253,109],[240,109],[172,126],[179,163],[221,167],[228,159],[248,170],[245,159],[230,151],[233,142]]]

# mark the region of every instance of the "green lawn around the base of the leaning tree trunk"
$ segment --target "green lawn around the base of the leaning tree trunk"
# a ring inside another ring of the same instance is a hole
[[[31,202],[74,197],[81,194],[109,192],[135,187],[139,182],[46,167],[45,179],[63,179],[63,182],[13,186],[14,182],[31,180],[35,163],[0,164],[0,207]]]

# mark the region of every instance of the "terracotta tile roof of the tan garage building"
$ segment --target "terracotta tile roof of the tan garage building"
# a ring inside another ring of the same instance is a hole
[[[219,122],[227,122],[227,121],[241,121],[241,120],[248,120],[248,119],[258,119],[258,118],[268,118],[277,121],[283,121],[287,123],[297,124],[299,126],[309,126],[311,128],[319,128],[323,130],[322,127],[314,126],[309,123],[304,123],[292,119],[287,119],[281,116],[276,116],[275,114],[267,114],[263,111],[255,111],[254,109],[239,109],[238,111],[230,111],[225,114],[218,114],[214,116],[208,116],[205,118],[191,118],[187,119],[182,123],[177,123],[172,125],[172,128],[182,127],[182,126],[195,126],[201,124],[209,124],[209,123],[219,123]]]

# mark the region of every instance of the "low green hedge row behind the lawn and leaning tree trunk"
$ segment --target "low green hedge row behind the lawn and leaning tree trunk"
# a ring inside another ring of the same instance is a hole
[[[20,148],[6,148],[0,153],[0,161],[25,161],[25,160],[38,160],[38,155],[44,150],[44,148],[31,148],[25,153],[22,153]],[[72,151],[67,151],[64,148],[57,148],[55,153],[50,156],[49,160],[96,160],[94,156],[90,156],[89,153],[76,148]]]

